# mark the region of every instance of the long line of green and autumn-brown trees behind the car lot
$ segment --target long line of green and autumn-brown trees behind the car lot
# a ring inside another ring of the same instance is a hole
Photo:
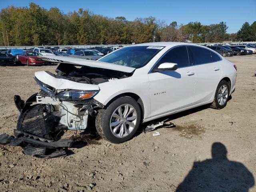
[[[122,16],[108,18],[82,8],[64,14],[56,7],[46,10],[30,3],[29,7],[10,6],[1,10],[0,46],[256,41],[256,22],[244,23],[236,34],[227,34],[227,28],[226,22],[177,25],[175,21],[167,24],[152,16],[128,21]]]

